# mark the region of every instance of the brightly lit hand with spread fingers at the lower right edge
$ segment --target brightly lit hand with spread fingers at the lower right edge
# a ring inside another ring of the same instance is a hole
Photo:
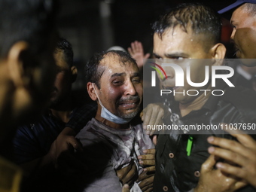
[[[256,142],[240,130],[227,130],[237,141],[211,136],[208,142],[218,147],[210,147],[209,153],[232,163],[217,163],[216,167],[230,175],[242,178],[256,187]],[[235,165],[233,165],[233,163]]]

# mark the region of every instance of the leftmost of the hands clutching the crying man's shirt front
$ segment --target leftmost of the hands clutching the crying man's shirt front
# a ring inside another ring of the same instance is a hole
[[[117,176],[122,184],[129,184],[129,186],[132,186],[138,178],[138,170],[136,168],[136,164],[130,163],[129,166],[117,170]]]

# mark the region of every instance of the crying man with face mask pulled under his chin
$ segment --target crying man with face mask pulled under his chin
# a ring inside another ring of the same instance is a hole
[[[142,180],[143,166],[138,157],[144,150],[154,148],[136,118],[142,102],[139,68],[128,53],[110,50],[96,53],[85,69],[87,91],[98,103],[98,109],[76,136],[83,145],[82,162],[89,169],[83,175],[84,190],[121,191],[117,169],[135,163],[139,172],[135,174]],[[142,186],[133,181],[130,187],[141,191]]]

